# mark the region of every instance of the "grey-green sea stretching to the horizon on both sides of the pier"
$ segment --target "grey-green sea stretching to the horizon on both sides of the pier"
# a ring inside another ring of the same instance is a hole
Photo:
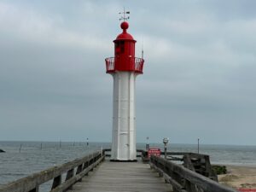
[[[150,147],[161,148],[163,143],[149,143]],[[0,187],[3,184],[58,166],[67,161],[83,157],[95,150],[110,148],[111,143],[69,143],[69,142],[1,142],[0,148]],[[137,143],[138,149],[145,149],[146,143]],[[172,152],[197,153],[196,144],[168,143]],[[234,166],[256,166],[256,146],[200,145],[200,153],[210,155],[212,164]],[[49,191],[49,183],[40,191]]]

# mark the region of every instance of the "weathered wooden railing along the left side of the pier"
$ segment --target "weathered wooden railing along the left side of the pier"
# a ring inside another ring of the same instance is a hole
[[[39,186],[49,180],[53,180],[50,192],[64,192],[72,189],[74,183],[81,181],[82,177],[93,171],[94,167],[104,158],[104,150],[97,151],[61,166],[54,166],[3,185],[0,192],[38,192]],[[63,175],[66,175],[66,179],[61,182]]]

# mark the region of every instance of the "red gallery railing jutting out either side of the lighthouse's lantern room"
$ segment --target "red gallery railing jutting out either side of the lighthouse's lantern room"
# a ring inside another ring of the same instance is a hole
[[[106,61],[106,71],[107,73],[113,73],[115,71],[114,67],[114,57],[108,57],[105,59]],[[131,71],[134,71],[136,73],[143,73],[143,65],[144,60],[143,58],[134,58],[134,68]]]

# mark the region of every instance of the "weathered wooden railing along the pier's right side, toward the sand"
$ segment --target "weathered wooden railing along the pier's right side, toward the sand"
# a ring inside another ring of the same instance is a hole
[[[151,156],[149,165],[171,183],[174,192],[237,192],[209,177],[205,177],[189,167],[186,168],[162,157]]]

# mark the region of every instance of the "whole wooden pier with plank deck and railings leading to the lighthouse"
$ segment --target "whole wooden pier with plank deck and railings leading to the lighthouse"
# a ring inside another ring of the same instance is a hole
[[[169,160],[154,155],[148,159],[146,151],[138,150],[142,158],[137,162],[111,162],[108,151],[20,178],[3,185],[0,192],[40,192],[50,180],[50,192],[237,192],[218,183],[206,154],[172,152],[167,153]]]

